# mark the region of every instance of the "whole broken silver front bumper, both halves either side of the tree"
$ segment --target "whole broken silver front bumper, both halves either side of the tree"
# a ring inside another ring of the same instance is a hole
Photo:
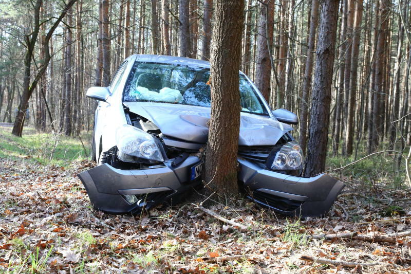
[[[190,171],[200,161],[189,156],[177,167],[141,170],[121,170],[104,164],[78,176],[95,209],[122,214],[152,207],[199,185],[201,176],[190,180]],[[304,178],[263,169],[242,158],[238,158],[238,163],[238,180],[248,197],[284,215],[324,216],[345,186],[326,174]],[[124,195],[136,195],[139,200],[129,204]]]

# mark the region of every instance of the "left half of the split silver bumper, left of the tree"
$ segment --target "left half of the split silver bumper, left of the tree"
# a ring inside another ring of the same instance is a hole
[[[176,168],[167,165],[141,170],[115,169],[105,163],[83,171],[78,177],[95,209],[122,214],[166,202],[198,185],[200,178],[191,181],[190,171],[199,162],[198,157],[189,156]],[[138,202],[129,204],[125,195],[135,195]]]

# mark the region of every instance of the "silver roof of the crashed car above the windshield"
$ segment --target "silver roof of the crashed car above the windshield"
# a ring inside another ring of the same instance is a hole
[[[164,63],[173,65],[195,66],[210,68],[210,62],[185,57],[153,55],[153,54],[134,54],[127,59],[136,58],[136,62]]]

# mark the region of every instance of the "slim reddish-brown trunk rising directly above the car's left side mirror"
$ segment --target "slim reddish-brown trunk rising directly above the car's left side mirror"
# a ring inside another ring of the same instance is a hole
[[[110,22],[108,21],[109,0],[101,0],[102,44],[103,44],[103,86],[110,84]]]

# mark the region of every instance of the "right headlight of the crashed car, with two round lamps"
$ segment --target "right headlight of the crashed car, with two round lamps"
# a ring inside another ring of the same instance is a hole
[[[288,142],[279,149],[271,164],[272,170],[298,170],[303,168],[303,152],[296,142]]]

